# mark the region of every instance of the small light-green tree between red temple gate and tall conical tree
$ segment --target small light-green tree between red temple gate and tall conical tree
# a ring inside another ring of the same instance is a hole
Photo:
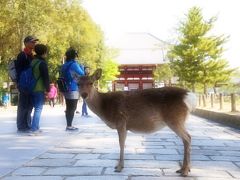
[[[159,82],[163,81],[165,86],[167,84],[171,85],[170,82],[172,77],[173,73],[172,70],[170,69],[169,64],[158,65],[154,71],[154,79]]]

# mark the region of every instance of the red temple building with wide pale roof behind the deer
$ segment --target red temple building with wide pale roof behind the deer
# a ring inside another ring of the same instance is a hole
[[[155,87],[153,71],[167,62],[168,44],[149,33],[127,33],[118,38],[113,47],[119,50],[117,80],[113,91]]]

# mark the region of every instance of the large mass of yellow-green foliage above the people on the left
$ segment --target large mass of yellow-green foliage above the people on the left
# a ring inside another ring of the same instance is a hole
[[[78,50],[79,62],[93,69],[105,59],[103,32],[78,0],[1,0],[0,19],[0,68],[6,69],[9,59],[16,57],[27,35],[48,45],[53,81],[70,46]]]

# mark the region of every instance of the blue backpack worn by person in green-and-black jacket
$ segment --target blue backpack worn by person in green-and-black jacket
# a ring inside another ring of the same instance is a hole
[[[33,71],[34,68],[40,64],[40,60],[35,62],[33,65],[30,65],[26,70],[22,71],[19,76],[18,88],[19,90],[25,93],[31,93],[35,88],[37,81],[40,79],[40,75],[38,78],[34,77]]]

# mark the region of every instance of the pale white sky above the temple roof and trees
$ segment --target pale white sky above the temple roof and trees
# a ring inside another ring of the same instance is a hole
[[[172,42],[188,10],[197,6],[204,19],[217,16],[214,35],[229,35],[224,57],[240,67],[239,0],[82,0],[83,7],[101,27],[108,41],[126,32],[147,32]]]

